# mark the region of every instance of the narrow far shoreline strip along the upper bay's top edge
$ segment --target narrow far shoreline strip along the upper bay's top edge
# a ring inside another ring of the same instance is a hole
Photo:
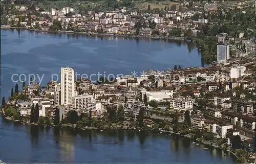
[[[187,40],[184,37],[176,37],[176,36],[139,36],[139,35],[122,35],[122,34],[111,34],[111,33],[88,33],[88,32],[74,32],[74,31],[51,31],[51,30],[37,30],[37,29],[29,29],[29,28],[23,28],[23,27],[10,27],[10,26],[1,26],[1,29],[8,30],[8,29],[22,29],[22,30],[28,30],[28,31],[34,31],[34,32],[45,32],[45,33],[62,33],[62,34],[78,34],[78,35],[89,35],[89,36],[116,36],[116,37],[127,37],[127,38],[138,38],[138,39],[166,39],[166,40],[180,40],[180,41],[190,41]],[[194,41],[194,40],[193,40]]]

